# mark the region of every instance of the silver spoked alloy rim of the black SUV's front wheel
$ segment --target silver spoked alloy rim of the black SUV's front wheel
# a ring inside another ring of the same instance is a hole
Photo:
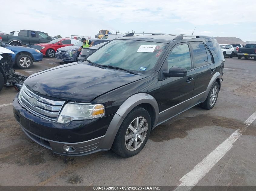
[[[129,125],[125,135],[125,146],[134,151],[144,142],[148,131],[148,123],[144,117],[137,117]]]

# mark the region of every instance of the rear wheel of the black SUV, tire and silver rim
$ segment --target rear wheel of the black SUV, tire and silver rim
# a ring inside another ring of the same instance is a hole
[[[215,95],[214,100],[212,99],[212,97],[213,97],[212,94]],[[212,109],[214,107],[215,103],[217,102],[218,94],[219,94],[219,84],[217,81],[215,81],[211,87],[211,90],[210,90],[206,100],[203,103],[200,103],[200,106],[207,110]]]

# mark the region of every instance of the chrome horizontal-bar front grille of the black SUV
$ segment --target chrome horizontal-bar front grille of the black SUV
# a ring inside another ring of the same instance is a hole
[[[31,97],[34,97],[37,100],[37,106],[33,106],[29,103],[29,98]],[[19,101],[25,109],[34,115],[50,121],[57,121],[58,114],[62,105],[65,103],[65,101],[54,101],[38,96],[26,87],[21,92],[21,98]]]

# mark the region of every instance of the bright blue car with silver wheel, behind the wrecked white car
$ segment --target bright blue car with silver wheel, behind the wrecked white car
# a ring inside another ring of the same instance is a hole
[[[39,62],[43,59],[43,54],[37,49],[24,46],[11,46],[2,42],[0,42],[0,46],[14,52],[12,54],[12,64],[16,64],[21,69],[28,69],[33,65],[33,62]]]

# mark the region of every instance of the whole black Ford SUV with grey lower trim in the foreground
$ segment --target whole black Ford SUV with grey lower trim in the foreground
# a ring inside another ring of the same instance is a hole
[[[223,68],[213,37],[121,37],[82,62],[31,75],[13,112],[29,138],[55,153],[112,148],[130,157],[159,124],[199,103],[213,108]]]

